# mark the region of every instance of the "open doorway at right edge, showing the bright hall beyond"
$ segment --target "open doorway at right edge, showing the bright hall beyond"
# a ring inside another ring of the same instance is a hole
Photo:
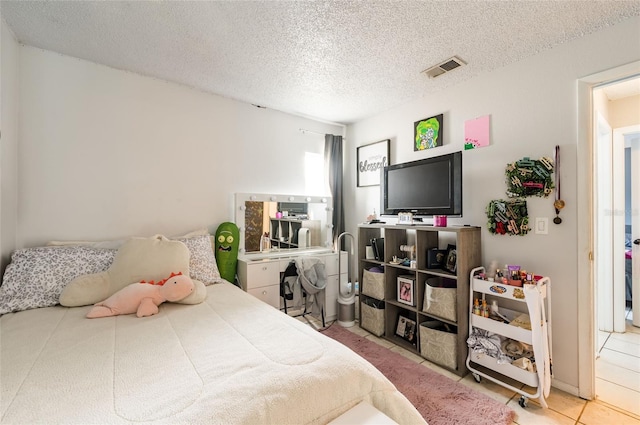
[[[605,82],[592,93],[595,396],[635,414],[640,414],[640,327],[633,326],[627,302],[640,308],[640,290],[633,299],[633,280],[638,288],[640,275],[628,266],[633,235],[640,233],[640,197],[632,196],[640,190],[634,183],[640,179],[632,176],[640,164],[631,155],[635,141],[640,144],[638,87],[640,78],[627,78]],[[635,122],[622,115],[625,105],[636,108]]]

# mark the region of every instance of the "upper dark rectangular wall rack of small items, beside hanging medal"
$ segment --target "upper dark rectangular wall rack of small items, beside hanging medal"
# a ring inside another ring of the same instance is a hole
[[[551,174],[553,161],[549,158],[529,159],[524,157],[507,165],[507,196],[509,198],[540,196],[547,197],[555,187]]]

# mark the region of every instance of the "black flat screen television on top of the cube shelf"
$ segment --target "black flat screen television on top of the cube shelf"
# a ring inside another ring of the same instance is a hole
[[[462,215],[462,152],[384,167],[381,213]]]

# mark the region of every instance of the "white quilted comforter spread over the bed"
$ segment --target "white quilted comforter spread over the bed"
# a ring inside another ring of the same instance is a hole
[[[90,307],[0,318],[1,417],[24,423],[322,424],[362,400],[420,414],[351,350],[224,283],[199,305],[86,319]]]

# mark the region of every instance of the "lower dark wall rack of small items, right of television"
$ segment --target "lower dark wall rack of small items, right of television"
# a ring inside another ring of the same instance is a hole
[[[497,199],[487,205],[487,228],[495,235],[520,235],[529,233],[529,213],[524,199]]]

